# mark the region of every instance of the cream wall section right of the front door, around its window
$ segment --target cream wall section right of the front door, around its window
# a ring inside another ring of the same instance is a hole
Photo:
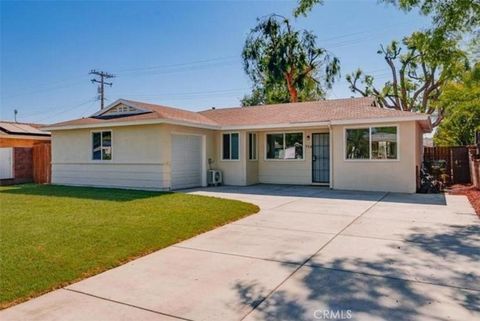
[[[414,193],[418,134],[414,121],[399,126],[399,160],[345,160],[344,130],[333,126],[333,188]]]

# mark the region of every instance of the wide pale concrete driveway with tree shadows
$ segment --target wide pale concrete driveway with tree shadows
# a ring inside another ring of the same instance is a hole
[[[261,212],[0,312],[2,320],[480,320],[463,196],[218,187]]]

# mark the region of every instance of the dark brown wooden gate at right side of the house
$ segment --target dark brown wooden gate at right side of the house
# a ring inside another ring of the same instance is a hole
[[[446,165],[445,174],[449,176],[447,184],[471,182],[467,146],[425,147],[423,160],[427,163],[444,161]]]

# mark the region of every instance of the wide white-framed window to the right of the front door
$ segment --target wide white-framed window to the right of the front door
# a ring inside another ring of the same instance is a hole
[[[398,159],[398,127],[348,128],[345,149],[346,159]]]

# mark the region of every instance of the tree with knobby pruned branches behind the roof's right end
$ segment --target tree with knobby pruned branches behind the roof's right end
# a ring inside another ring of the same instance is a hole
[[[380,107],[432,114],[433,126],[443,119],[445,108],[438,104],[442,89],[457,79],[468,64],[458,41],[431,31],[414,32],[402,44],[393,41],[378,51],[391,72],[382,86],[360,69],[347,75],[353,92],[376,97]]]

